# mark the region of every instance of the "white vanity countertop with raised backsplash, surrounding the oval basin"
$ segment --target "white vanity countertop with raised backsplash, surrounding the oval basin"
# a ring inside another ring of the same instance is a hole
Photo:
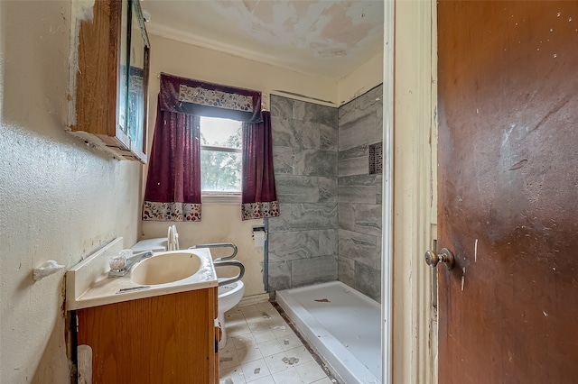
[[[66,272],[66,309],[74,310],[90,306],[105,306],[137,298],[155,297],[195,289],[218,286],[217,273],[207,248],[172,252],[190,252],[200,258],[200,269],[187,279],[166,284],[142,286],[130,279],[130,272],[121,278],[108,278],[108,260],[122,249],[122,238],[109,242],[85,261],[79,262]],[[155,252],[154,256],[168,252]],[[138,289],[139,287],[147,287]],[[137,288],[118,293],[123,288]]]

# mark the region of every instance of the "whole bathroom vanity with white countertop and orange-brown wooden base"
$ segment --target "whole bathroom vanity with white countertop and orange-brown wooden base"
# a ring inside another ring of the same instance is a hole
[[[122,245],[113,240],[66,274],[79,383],[218,383],[218,280],[210,251],[157,252],[135,264],[138,279],[109,278],[108,261]],[[189,259],[194,270],[182,279]],[[145,264],[152,267],[146,273]]]

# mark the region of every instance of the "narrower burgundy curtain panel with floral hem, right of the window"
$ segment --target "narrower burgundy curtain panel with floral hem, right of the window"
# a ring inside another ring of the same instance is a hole
[[[261,123],[243,123],[243,220],[279,215],[273,169],[271,113],[263,111],[262,114]]]

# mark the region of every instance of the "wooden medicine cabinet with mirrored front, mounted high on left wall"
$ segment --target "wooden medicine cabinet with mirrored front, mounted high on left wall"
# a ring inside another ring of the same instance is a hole
[[[146,162],[150,45],[139,0],[96,0],[79,22],[70,132]]]

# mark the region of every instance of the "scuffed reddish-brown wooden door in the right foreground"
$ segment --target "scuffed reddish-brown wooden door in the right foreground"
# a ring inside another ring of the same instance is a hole
[[[438,5],[439,382],[578,382],[578,1]]]

